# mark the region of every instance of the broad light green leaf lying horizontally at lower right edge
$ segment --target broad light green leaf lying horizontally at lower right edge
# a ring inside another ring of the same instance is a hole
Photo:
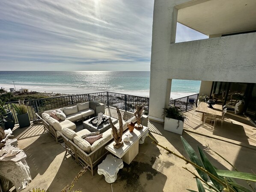
[[[217,174],[224,177],[232,177],[243,180],[250,180],[256,182],[256,174],[244,173],[239,171],[226,171],[226,170],[216,170]]]

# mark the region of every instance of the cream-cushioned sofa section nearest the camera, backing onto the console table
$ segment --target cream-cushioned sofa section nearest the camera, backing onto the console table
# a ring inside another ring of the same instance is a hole
[[[131,112],[124,112],[123,115],[123,130],[128,129],[129,122],[136,122],[134,114]],[[148,116],[143,115],[142,124],[148,125]],[[119,128],[119,122],[115,124]],[[108,129],[103,134],[101,139],[95,141],[92,145],[89,144],[85,139],[82,139],[86,133],[90,133],[89,130],[81,130],[75,133],[74,131],[65,128],[59,134],[63,137],[65,142],[66,151],[75,157],[76,162],[80,162],[84,166],[89,166],[93,176],[93,168],[98,164],[106,155],[109,153],[105,146],[113,140],[112,129]]]

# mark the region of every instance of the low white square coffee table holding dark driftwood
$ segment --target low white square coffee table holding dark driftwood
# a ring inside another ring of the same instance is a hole
[[[104,116],[109,118],[109,116],[107,116],[107,115],[104,115]],[[117,119],[116,118],[113,118],[113,117],[110,117],[110,118],[111,118],[113,124],[117,123]],[[106,130],[108,130],[111,127],[109,121],[106,121],[106,122],[104,122],[103,124],[101,124],[100,126],[97,127],[97,126],[89,123],[89,121],[91,121],[92,119],[93,118],[90,118],[90,119],[88,119],[86,121],[83,121],[83,128],[89,130],[90,132],[97,132],[97,131],[99,131],[100,134],[101,134],[101,133],[104,133]]]

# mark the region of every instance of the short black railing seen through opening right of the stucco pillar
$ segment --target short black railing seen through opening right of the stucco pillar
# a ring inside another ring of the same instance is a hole
[[[170,100],[169,106],[179,106],[182,109],[182,112],[188,111],[190,109],[193,109],[193,105],[196,104],[198,95],[199,93],[179,99]]]

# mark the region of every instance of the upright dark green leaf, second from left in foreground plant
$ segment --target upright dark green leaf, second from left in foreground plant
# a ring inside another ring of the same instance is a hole
[[[201,160],[202,160],[202,164],[204,165],[205,169],[206,169],[209,173],[213,174],[215,177],[217,177],[217,178],[219,179],[219,176],[217,175],[217,173],[216,173],[216,171],[215,171],[215,168],[213,167],[213,165],[211,165],[211,162],[208,160],[208,158],[206,157],[206,155],[204,154],[204,152],[202,151],[202,149],[198,147],[198,150],[199,150],[199,154],[200,154],[200,157],[201,157]],[[210,177],[210,176],[209,176],[209,177]],[[222,189],[223,189],[222,184],[219,183],[219,182],[217,182],[216,180],[214,180],[214,179],[211,178],[211,177],[210,177],[210,179],[211,179],[212,183],[214,184],[214,186],[215,186],[218,190],[222,191]]]

